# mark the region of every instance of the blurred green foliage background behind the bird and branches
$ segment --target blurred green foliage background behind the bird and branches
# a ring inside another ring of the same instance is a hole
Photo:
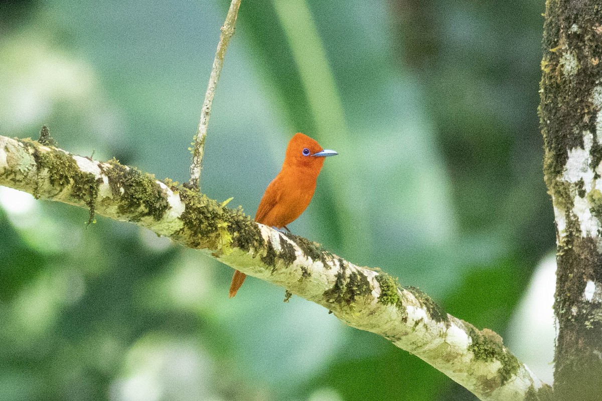
[[[228,5],[0,1],[0,135],[47,124],[72,153],[187,181]],[[288,139],[312,136],[340,156],[291,230],[499,332],[550,382],[543,12],[532,0],[243,0],[202,191],[254,215]],[[87,219],[0,187],[2,400],[475,399],[324,308],[285,304],[282,288],[250,278],[228,299],[227,266]]]

